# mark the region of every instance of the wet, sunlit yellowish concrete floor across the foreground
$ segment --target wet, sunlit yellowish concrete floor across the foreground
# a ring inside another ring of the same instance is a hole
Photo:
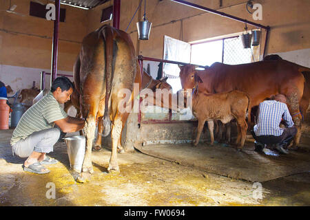
[[[64,143],[58,164],[37,175],[12,156],[12,130],[0,131],[0,206],[309,206],[309,172],[271,181],[244,181],[207,173],[143,153],[118,154],[121,173],[107,173],[110,151],[93,152],[92,181],[79,184]],[[309,139],[302,139],[309,146]],[[252,143],[248,143],[253,147]],[[306,147],[302,153],[309,154]],[[309,158],[309,157],[308,157]],[[54,194],[52,193],[54,187]],[[260,193],[261,192],[261,193]]]

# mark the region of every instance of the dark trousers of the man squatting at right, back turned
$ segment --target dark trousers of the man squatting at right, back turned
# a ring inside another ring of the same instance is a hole
[[[256,136],[254,131],[251,132],[254,139],[262,144],[280,144],[282,142],[285,142],[287,140],[293,140],[293,137],[297,133],[297,128],[295,126],[291,128],[285,128],[283,130],[282,135],[280,136],[274,136],[274,135],[261,135]]]

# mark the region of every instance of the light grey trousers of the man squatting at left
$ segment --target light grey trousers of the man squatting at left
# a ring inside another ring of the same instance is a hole
[[[12,146],[13,155],[29,157],[33,151],[39,153],[50,153],[54,144],[59,139],[60,130],[56,128],[37,131],[29,135],[25,140],[19,140]]]

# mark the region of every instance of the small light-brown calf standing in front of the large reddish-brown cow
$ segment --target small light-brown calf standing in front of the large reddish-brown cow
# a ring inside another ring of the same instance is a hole
[[[245,144],[247,135],[245,118],[250,104],[249,96],[245,92],[237,90],[220,94],[198,92],[198,83],[203,83],[203,80],[197,74],[194,75],[194,80],[195,86],[192,93],[189,93],[188,90],[183,93],[185,105],[192,104],[193,114],[198,119],[198,131],[196,140],[193,142],[194,145],[196,146],[199,142],[205,122],[209,127],[211,144],[214,144],[214,120],[220,120],[223,124],[226,124],[235,118],[238,128],[236,145],[238,149],[241,149]]]

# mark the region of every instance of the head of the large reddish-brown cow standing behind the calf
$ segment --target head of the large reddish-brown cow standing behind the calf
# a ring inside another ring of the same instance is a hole
[[[195,65],[178,65],[180,68],[180,82],[183,89],[193,89],[195,86]]]

